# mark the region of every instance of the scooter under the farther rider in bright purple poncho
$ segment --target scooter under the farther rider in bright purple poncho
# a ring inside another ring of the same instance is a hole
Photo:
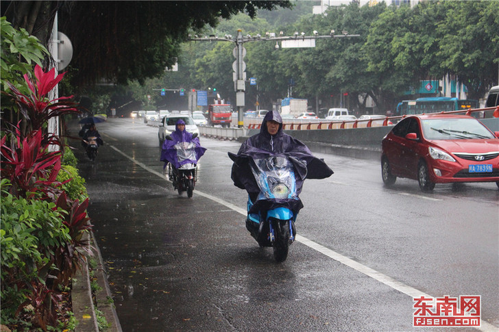
[[[168,139],[171,140],[171,137],[167,136]],[[178,142],[175,144],[175,149],[178,162],[181,165],[179,168],[175,168],[171,163],[168,163],[168,177],[173,183],[173,188],[178,190],[178,194],[187,192],[190,199],[193,196],[194,186],[197,181],[197,164],[191,162],[182,164],[182,162],[186,159],[196,160],[195,144],[193,142]]]

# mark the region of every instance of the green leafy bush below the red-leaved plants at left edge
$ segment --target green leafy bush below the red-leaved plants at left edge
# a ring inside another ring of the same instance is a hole
[[[49,201],[27,200],[5,194],[8,181],[1,181],[1,318],[13,318],[27,304],[35,311],[39,294],[48,290],[53,274],[54,249],[71,241],[62,212]],[[38,305],[37,305],[38,303]],[[43,310],[38,310],[44,313]]]

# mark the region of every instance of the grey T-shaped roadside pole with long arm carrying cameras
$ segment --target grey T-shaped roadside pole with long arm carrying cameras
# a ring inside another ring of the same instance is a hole
[[[209,42],[234,42],[236,47],[234,48],[233,55],[236,58],[234,64],[232,64],[232,69],[234,70],[234,90],[236,92],[236,107],[237,107],[237,125],[239,128],[243,127],[243,114],[245,107],[245,81],[246,81],[246,64],[243,61],[246,55],[246,49],[243,47],[245,42],[259,42],[259,41],[276,41],[276,49],[279,49],[278,42],[281,42],[282,48],[299,48],[299,47],[315,47],[316,39],[325,38],[350,38],[358,37],[357,34],[348,34],[348,31],[341,31],[341,34],[334,34],[334,30],[330,31],[330,34],[319,36],[317,31],[313,31],[313,36],[305,36],[302,32],[298,34],[296,31],[293,36],[284,36],[284,33],[280,31],[279,36],[276,36],[273,32],[266,32],[265,36],[257,34],[256,36],[246,35],[243,36],[243,31],[241,29],[237,30],[236,37],[232,35],[225,35],[223,38],[219,36],[189,36],[190,40],[193,41],[209,41]]]

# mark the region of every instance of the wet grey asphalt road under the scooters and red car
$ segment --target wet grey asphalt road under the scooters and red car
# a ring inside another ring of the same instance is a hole
[[[317,153],[335,174],[304,184],[300,238],[276,264],[247,233],[247,196],[230,180],[239,143],[201,138],[188,199],[165,178],[157,128],[110,119],[97,129],[96,161],[77,144],[76,155],[123,331],[420,330],[420,294],[480,295],[482,329],[497,331],[495,183],[387,189],[378,161]]]

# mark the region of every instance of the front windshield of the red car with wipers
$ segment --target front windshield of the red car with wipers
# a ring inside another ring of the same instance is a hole
[[[463,140],[494,138],[474,118],[435,118],[422,120],[423,135],[427,140]]]

